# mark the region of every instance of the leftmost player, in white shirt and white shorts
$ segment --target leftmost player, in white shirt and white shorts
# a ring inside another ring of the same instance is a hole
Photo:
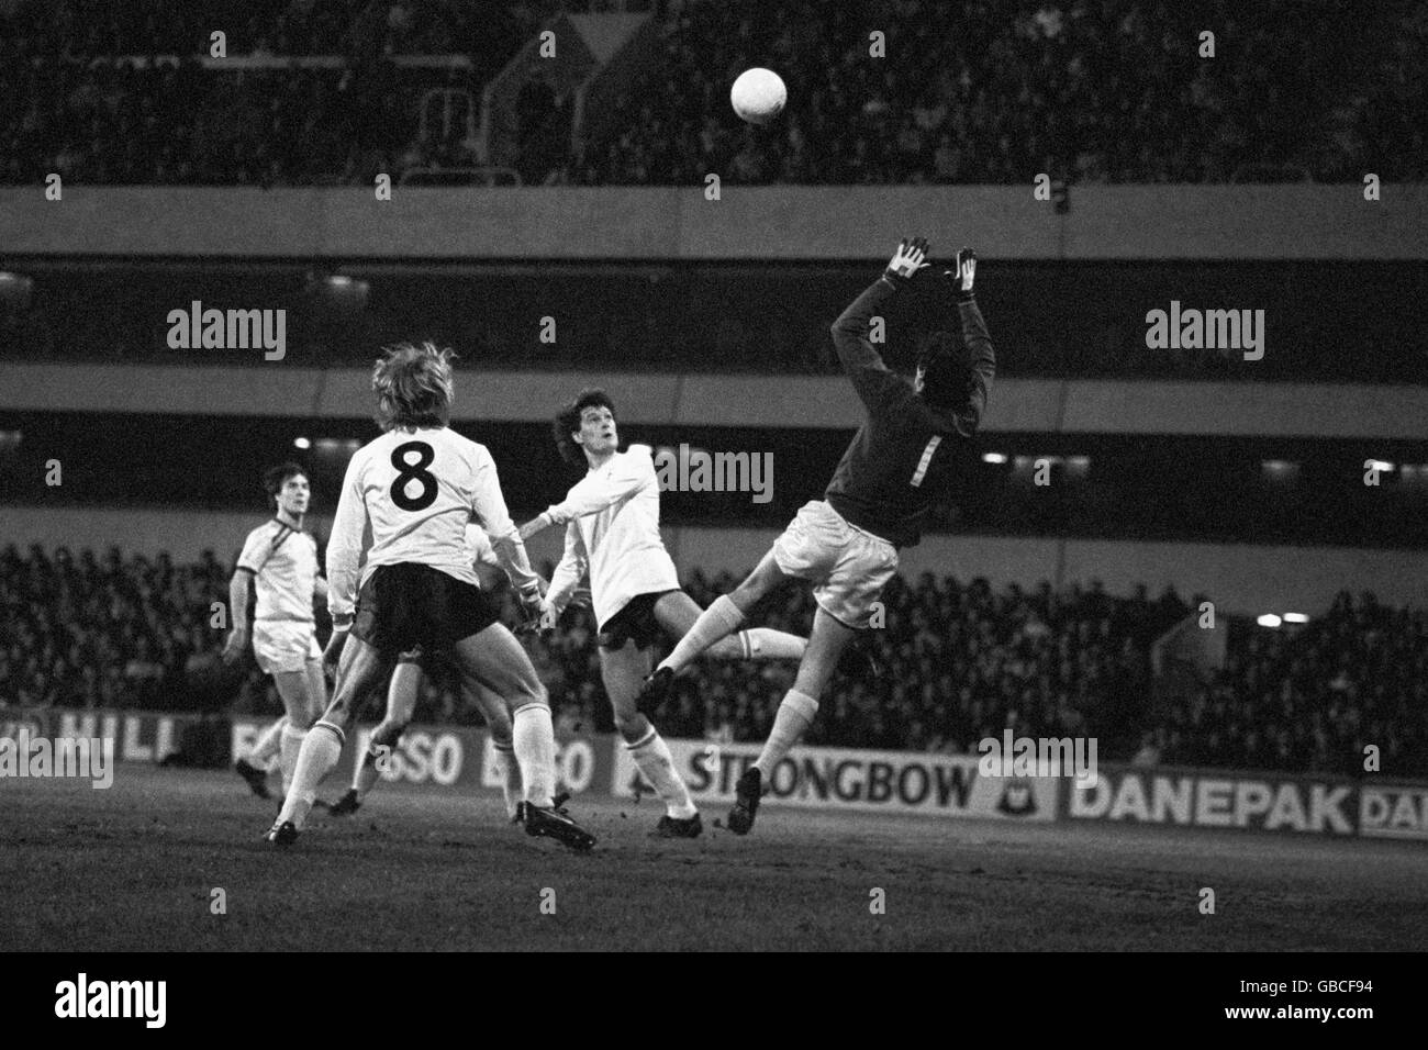
[[[270,726],[236,769],[254,794],[267,797],[267,761],[278,753],[283,793],[293,781],[297,753],[308,727],[327,706],[323,651],[317,646],[313,597],[327,596],[327,581],[317,574],[317,540],[303,531],[311,487],[297,463],[268,470],[263,486],[276,513],[251,533],[228,581],[228,614],[233,629],[223,647],[226,663],[236,661],[248,644],[248,580],[257,591],[253,610],[253,654],[273,676],[284,716]]]

